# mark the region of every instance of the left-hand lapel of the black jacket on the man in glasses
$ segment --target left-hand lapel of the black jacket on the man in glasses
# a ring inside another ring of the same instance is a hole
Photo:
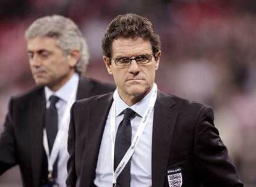
[[[95,105],[91,106],[88,113],[87,137],[85,150],[83,152],[83,167],[80,186],[92,186],[95,178],[96,164],[100,151],[101,138],[105,129],[109,109],[113,103],[113,93],[98,98]],[[96,111],[96,114],[93,113]]]

